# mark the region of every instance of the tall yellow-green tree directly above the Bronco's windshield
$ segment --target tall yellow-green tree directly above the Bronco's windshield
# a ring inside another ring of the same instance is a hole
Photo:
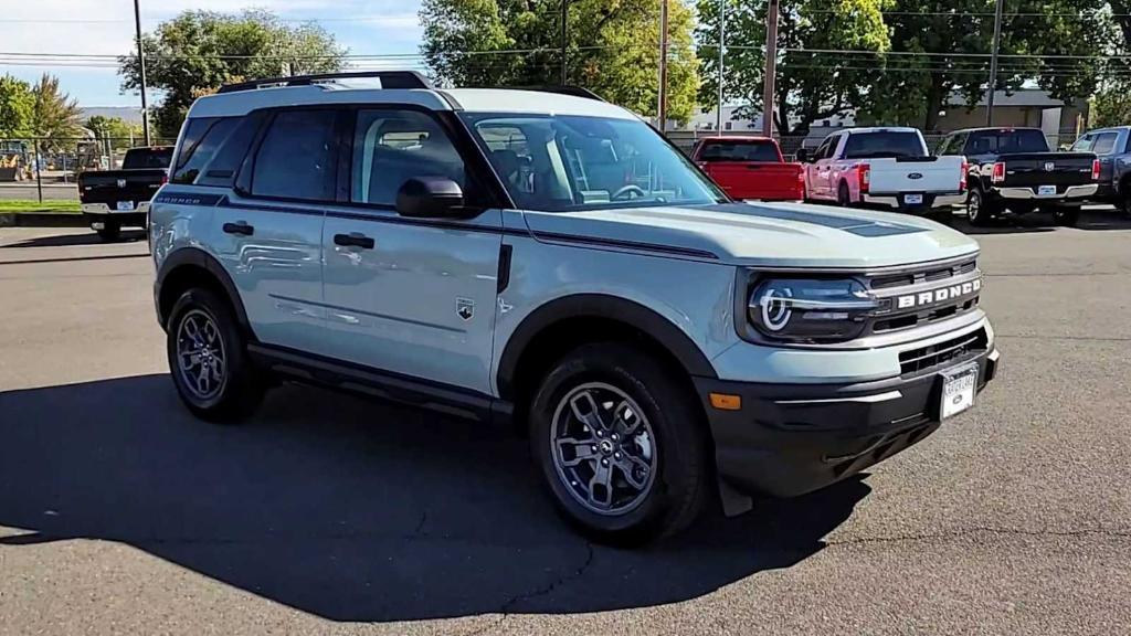
[[[694,111],[694,17],[668,9],[668,118]],[[457,86],[545,86],[560,81],[561,0],[424,0],[422,52],[435,79]],[[659,2],[572,0],[567,83],[645,115],[656,114]]]

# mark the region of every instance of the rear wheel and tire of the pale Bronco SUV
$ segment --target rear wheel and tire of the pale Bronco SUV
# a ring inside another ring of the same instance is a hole
[[[233,423],[254,412],[265,385],[248,359],[245,338],[224,299],[201,287],[184,292],[173,304],[165,330],[169,371],[192,414]]]

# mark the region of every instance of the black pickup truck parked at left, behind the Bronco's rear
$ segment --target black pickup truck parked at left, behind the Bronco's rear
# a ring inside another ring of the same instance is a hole
[[[130,148],[121,170],[93,170],[78,175],[83,216],[104,240],[118,239],[122,226],[145,227],[149,199],[165,182],[172,146]]]

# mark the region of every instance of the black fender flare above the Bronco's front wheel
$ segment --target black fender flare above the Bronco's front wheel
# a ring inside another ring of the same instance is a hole
[[[691,376],[717,378],[702,350],[674,323],[631,300],[606,294],[562,296],[532,311],[518,325],[499,359],[497,381],[504,399],[513,398],[518,363],[527,345],[544,329],[570,318],[606,318],[639,328],[663,345]]]

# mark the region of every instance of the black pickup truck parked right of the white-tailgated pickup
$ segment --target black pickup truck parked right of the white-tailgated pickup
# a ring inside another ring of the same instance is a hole
[[[1099,162],[1093,153],[1054,153],[1037,128],[970,128],[951,132],[940,155],[965,155],[969,188],[967,214],[984,225],[1010,212],[1037,208],[1074,225],[1080,205],[1096,194]]]

